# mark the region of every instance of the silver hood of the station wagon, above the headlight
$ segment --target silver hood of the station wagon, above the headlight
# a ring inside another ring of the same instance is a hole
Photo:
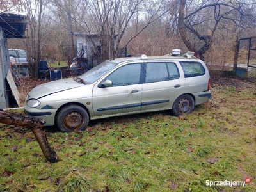
[[[39,99],[40,97],[51,95],[52,93],[63,92],[65,90],[77,88],[79,86],[84,86],[84,84],[77,83],[73,80],[73,78],[51,81],[49,83],[40,84],[33,88],[33,90],[29,92],[27,99]]]

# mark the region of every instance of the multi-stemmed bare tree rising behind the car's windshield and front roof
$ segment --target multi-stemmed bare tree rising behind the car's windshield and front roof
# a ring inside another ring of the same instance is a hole
[[[131,28],[134,20],[137,23],[143,20],[143,26],[134,31],[131,38],[124,42],[125,45],[169,10],[166,1],[158,0],[80,0],[75,1],[74,4],[67,4],[67,0],[63,0],[55,3],[72,17],[72,24],[76,26],[77,32],[97,36],[102,51],[95,49],[98,51],[95,54],[102,60],[118,56],[118,49],[125,32]]]

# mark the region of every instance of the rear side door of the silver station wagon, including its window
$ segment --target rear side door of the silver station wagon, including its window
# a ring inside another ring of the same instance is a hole
[[[145,83],[142,92],[142,111],[172,108],[173,101],[183,90],[176,63],[145,63]]]

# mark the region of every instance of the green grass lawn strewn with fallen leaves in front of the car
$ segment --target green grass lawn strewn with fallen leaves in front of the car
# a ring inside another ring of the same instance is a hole
[[[213,84],[215,104],[186,116],[120,116],[68,134],[45,129],[58,163],[45,161],[29,130],[2,125],[0,191],[256,191],[256,89],[241,83]],[[244,187],[206,186],[246,177]]]

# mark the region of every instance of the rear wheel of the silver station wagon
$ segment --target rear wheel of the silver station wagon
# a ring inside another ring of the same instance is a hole
[[[195,108],[195,100],[189,94],[180,95],[173,103],[172,112],[175,116],[189,114]]]

